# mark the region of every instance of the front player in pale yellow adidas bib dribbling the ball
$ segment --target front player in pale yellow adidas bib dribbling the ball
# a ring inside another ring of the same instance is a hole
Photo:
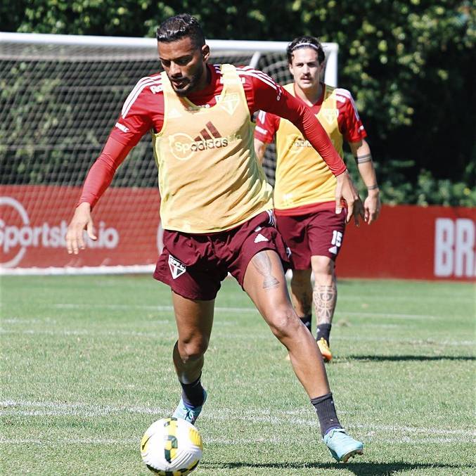
[[[207,393],[201,375],[212,331],[214,299],[230,273],[250,295],[290,360],[316,409],[321,434],[337,461],[363,445],[343,430],[321,354],[297,318],[286,286],[288,255],[274,226],[272,191],[253,146],[251,117],[268,110],[297,124],[337,176],[335,198],[358,220],[361,202],[342,159],[307,106],[250,67],[209,65],[202,29],[188,14],[157,29],[164,72],[141,79],[91,167],[67,229],[67,250],[94,239],[91,208],[129,150],[150,131],[159,169],[164,250],[154,277],[172,289],[178,340],[173,361],[181,385],[174,416],[195,423]],[[310,365],[309,365],[310,364]]]

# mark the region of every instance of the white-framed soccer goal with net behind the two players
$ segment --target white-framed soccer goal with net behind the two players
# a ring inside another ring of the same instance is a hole
[[[285,41],[207,41],[211,63],[291,80]],[[149,271],[160,249],[157,171],[145,136],[94,212],[98,241],[77,257],[65,229],[86,173],[136,82],[160,71],[155,39],[0,32],[0,272]],[[337,83],[337,45],[324,44]],[[274,184],[274,150],[264,169]],[[155,204],[155,205],[152,205]],[[123,222],[127,221],[127,224]]]

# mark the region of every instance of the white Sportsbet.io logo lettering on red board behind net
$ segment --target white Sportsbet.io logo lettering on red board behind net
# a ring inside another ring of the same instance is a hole
[[[48,221],[32,224],[21,202],[12,197],[0,197],[0,266],[18,266],[32,248],[65,248],[66,231],[65,220],[59,224]],[[96,241],[90,240],[84,233],[86,245],[90,248],[112,249],[119,243],[117,229],[106,228],[104,221],[99,222]]]

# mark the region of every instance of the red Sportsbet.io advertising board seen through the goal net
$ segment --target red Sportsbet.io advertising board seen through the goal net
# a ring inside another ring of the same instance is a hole
[[[109,188],[94,208],[98,240],[68,255],[67,224],[80,188],[3,186],[0,264],[4,269],[155,264],[159,255],[157,188]]]

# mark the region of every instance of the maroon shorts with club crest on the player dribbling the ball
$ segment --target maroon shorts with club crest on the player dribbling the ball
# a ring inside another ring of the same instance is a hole
[[[262,212],[219,233],[165,230],[163,242],[154,278],[193,300],[214,299],[228,273],[243,287],[246,268],[259,251],[275,250],[284,268],[290,267],[289,250],[276,230],[272,212]]]

